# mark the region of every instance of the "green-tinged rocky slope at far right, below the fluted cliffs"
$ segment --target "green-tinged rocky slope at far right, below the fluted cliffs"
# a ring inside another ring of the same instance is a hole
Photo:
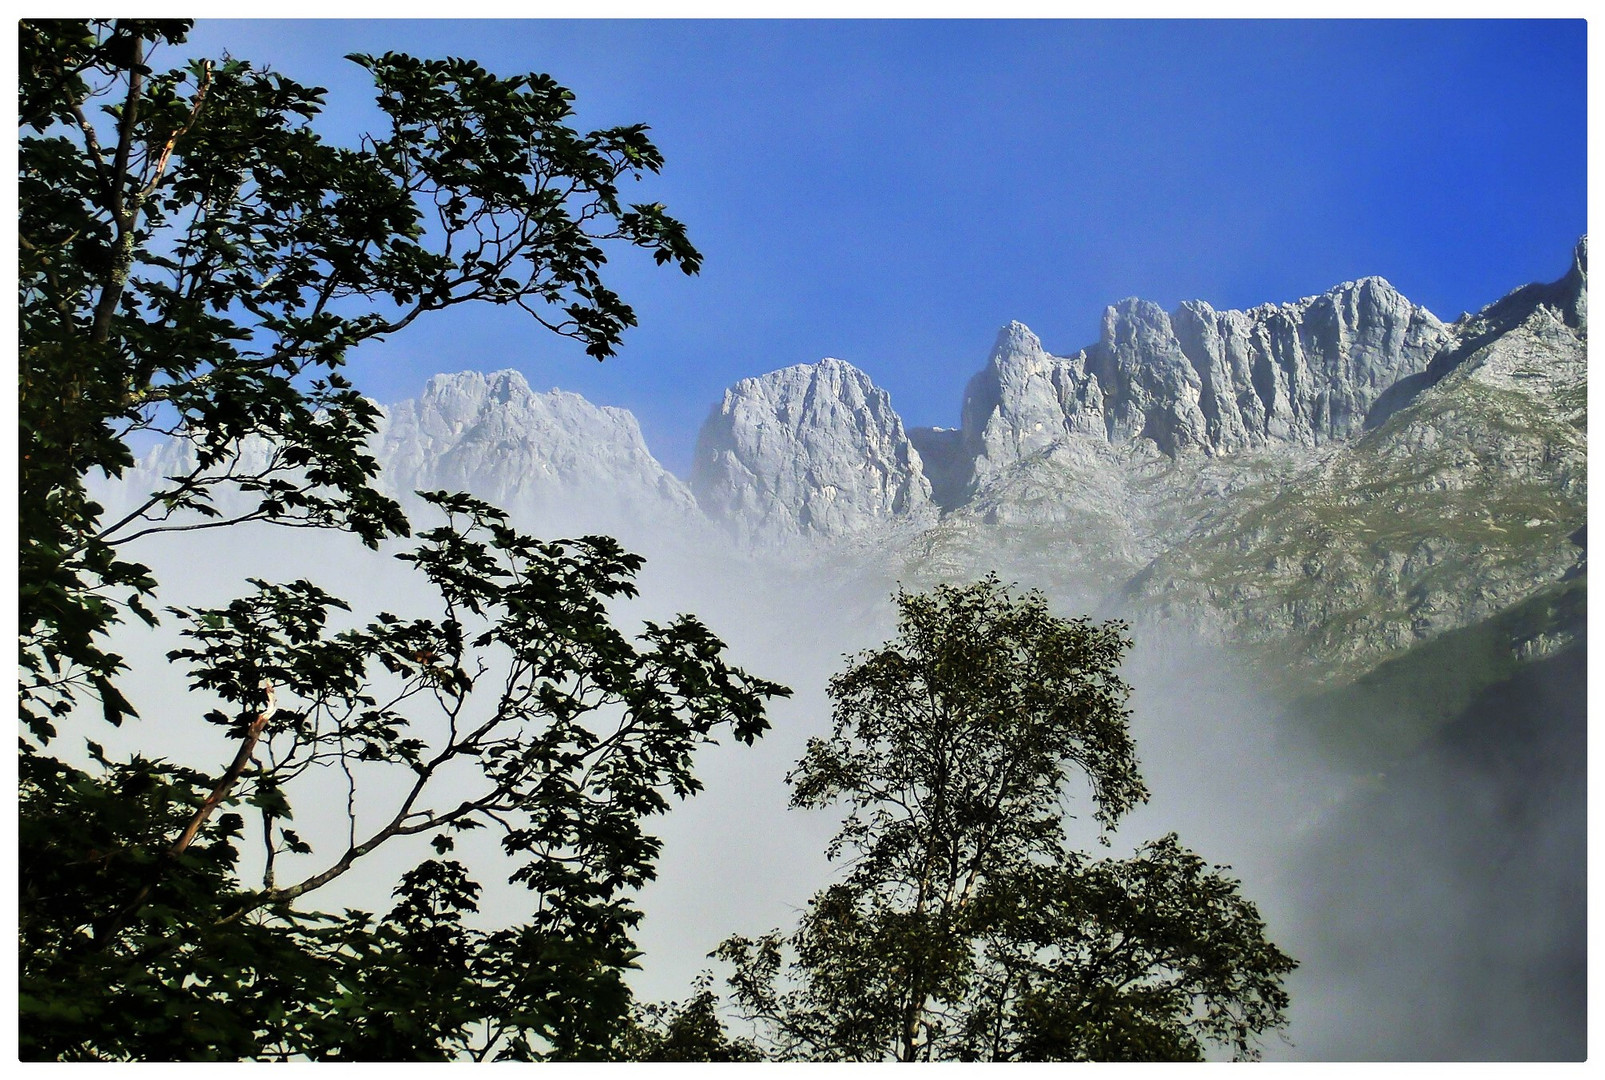
[[[1223,501],[1130,594],[1351,676],[1583,575],[1586,313],[1579,246],[1562,281],[1456,323],[1372,430]]]

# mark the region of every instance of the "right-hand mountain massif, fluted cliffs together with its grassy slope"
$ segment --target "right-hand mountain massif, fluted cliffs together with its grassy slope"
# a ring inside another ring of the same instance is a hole
[[[968,499],[904,578],[1006,568],[1342,680],[1586,575],[1586,244],[1448,327],[1375,278],[1252,311],[1124,302],[1069,358],[1013,324],[966,395]]]

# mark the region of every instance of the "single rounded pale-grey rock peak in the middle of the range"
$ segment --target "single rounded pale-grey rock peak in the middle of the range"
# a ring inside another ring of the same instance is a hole
[[[742,538],[835,538],[936,517],[891,396],[841,359],[730,387],[697,436],[692,491]]]

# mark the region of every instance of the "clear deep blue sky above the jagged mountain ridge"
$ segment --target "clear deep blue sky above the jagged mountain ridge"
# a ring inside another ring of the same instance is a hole
[[[551,72],[583,127],[645,122],[685,278],[621,250],[640,326],[586,359],[467,308],[364,347],[380,401],[437,371],[518,367],[629,408],[684,475],[730,382],[839,356],[912,425],[958,422],[1003,323],[1091,343],[1128,295],[1252,307],[1382,274],[1453,319],[1558,278],[1586,231],[1586,24],[202,21],[189,55],[329,87],[350,51]]]

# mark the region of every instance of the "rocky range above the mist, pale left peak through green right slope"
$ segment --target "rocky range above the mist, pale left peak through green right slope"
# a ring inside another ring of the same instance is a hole
[[[1586,364],[1584,239],[1558,281],[1449,324],[1382,278],[1247,311],[1122,300],[1069,356],[1010,323],[957,428],[907,428],[841,359],[772,371],[714,404],[689,481],[629,412],[514,371],[430,379],[376,453],[396,493],[469,489],[546,528],[913,584],[1002,570],[1191,626],[1297,695],[1514,610],[1518,660],[1575,635]]]

